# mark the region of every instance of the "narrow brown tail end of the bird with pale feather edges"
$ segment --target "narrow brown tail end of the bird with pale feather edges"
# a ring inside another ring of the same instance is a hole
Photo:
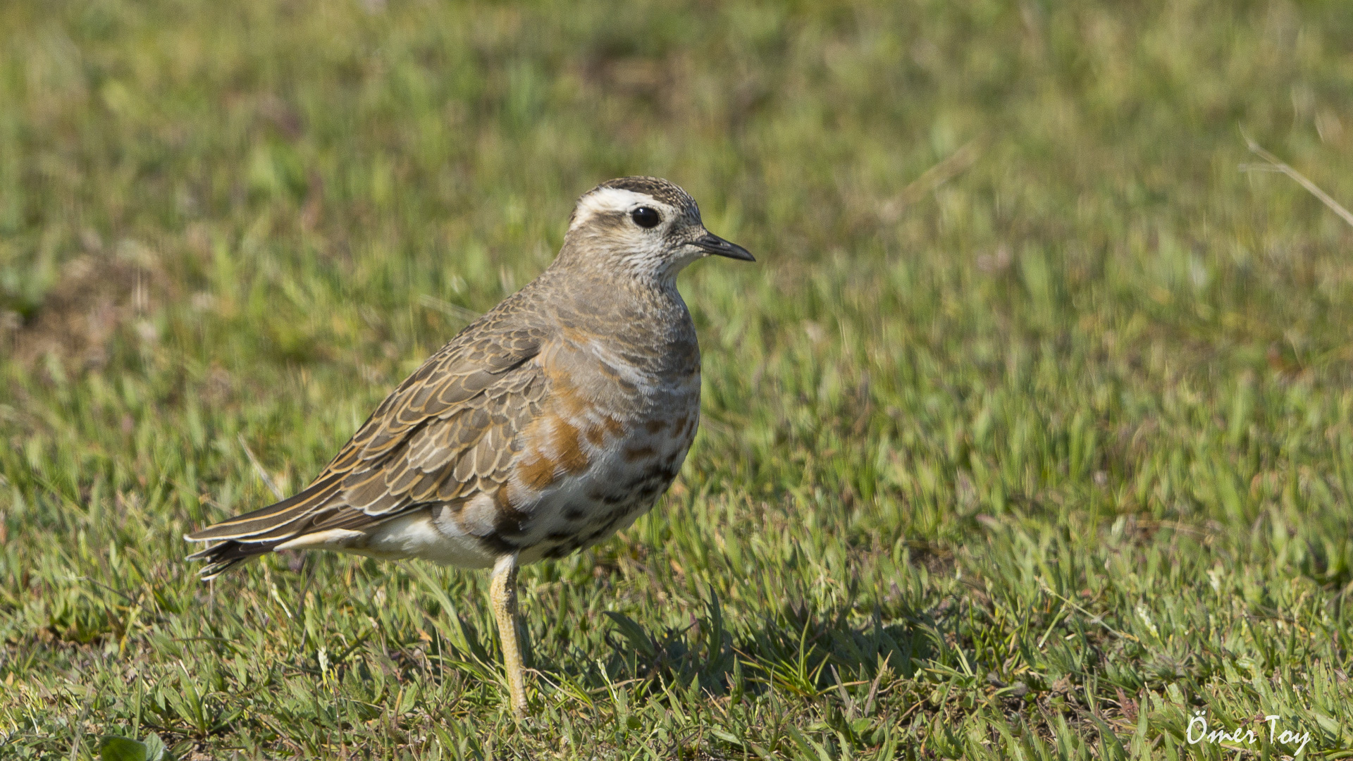
[[[207,565],[198,573],[203,581],[211,581],[254,555],[272,552],[277,546],[315,531],[317,519],[322,520],[331,513],[331,509],[326,509],[326,502],[341,487],[342,474],[331,474],[294,497],[185,534],[184,539],[188,542],[221,540],[185,559],[206,561]]]

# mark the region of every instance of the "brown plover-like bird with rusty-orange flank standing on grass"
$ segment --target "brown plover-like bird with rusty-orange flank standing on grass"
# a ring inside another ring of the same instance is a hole
[[[528,710],[517,570],[629,527],[700,425],[700,344],[676,274],[755,261],[676,184],[583,194],[530,283],[406,378],[299,493],[184,535],[203,580],[267,552],[334,550],[491,569],[510,707]]]

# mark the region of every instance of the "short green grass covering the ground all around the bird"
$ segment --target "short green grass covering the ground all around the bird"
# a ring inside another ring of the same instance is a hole
[[[1348,757],[1353,229],[1239,165],[1350,103],[1337,0],[3,3],[0,757]],[[533,722],[482,573],[196,581],[624,173],[759,263]]]

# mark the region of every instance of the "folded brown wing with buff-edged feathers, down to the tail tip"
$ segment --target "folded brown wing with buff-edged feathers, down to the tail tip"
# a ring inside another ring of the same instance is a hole
[[[544,329],[502,330],[490,320],[511,301],[405,379],[304,490],[189,534],[195,542],[223,540],[189,557],[208,562],[203,575],[214,577],[296,536],[361,531],[428,502],[464,500],[505,482],[511,454],[522,448],[517,435],[530,410],[540,413],[548,385],[532,362]]]

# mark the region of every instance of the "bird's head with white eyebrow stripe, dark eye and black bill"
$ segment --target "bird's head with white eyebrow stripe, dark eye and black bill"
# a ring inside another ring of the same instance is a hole
[[[710,255],[755,261],[746,248],[706,230],[700,207],[681,187],[659,177],[620,177],[578,199],[560,259],[670,283]]]

